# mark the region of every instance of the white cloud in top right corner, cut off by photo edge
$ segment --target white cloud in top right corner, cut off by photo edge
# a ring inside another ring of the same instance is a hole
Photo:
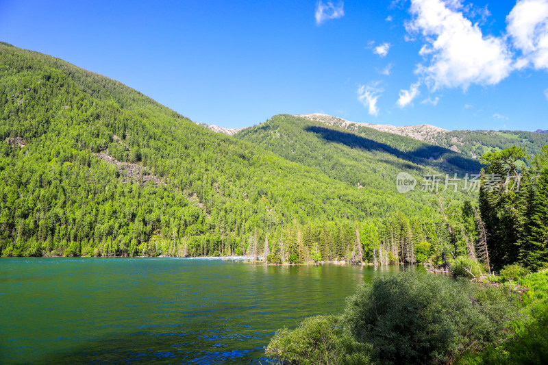
[[[530,63],[548,69],[548,0],[521,0],[506,17],[508,35],[522,57],[515,68]]]

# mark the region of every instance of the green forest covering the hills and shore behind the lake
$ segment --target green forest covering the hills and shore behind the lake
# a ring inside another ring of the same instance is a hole
[[[232,138],[49,55],[1,43],[0,58],[3,256],[472,260],[482,273],[548,261],[546,148],[478,161],[286,114]],[[482,166],[500,181],[479,194],[442,191],[443,181],[437,193],[396,190],[401,171],[420,180]],[[521,189],[506,192],[515,173]]]

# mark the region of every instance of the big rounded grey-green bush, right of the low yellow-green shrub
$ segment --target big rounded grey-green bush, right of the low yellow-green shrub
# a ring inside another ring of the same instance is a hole
[[[438,364],[501,340],[516,305],[497,288],[407,271],[360,288],[343,321],[381,362]]]

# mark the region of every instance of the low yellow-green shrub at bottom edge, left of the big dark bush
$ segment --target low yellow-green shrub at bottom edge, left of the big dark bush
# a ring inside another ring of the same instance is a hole
[[[266,357],[284,364],[371,364],[371,347],[345,333],[336,316],[306,318],[297,329],[277,331]]]

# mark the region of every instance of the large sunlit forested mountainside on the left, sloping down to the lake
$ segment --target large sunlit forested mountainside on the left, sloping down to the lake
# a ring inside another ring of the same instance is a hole
[[[369,219],[386,229],[376,239],[447,236],[394,184],[351,186],[48,55],[2,43],[0,60],[2,255],[308,260],[315,244],[347,258]]]

